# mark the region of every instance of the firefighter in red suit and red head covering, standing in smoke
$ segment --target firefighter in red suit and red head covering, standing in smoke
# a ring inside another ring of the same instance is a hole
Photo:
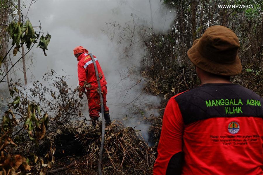
[[[89,55],[89,51],[83,48],[82,46],[78,46],[74,48],[73,52],[74,52],[74,56],[78,60],[78,77],[79,77],[79,86],[80,86],[79,98],[82,98],[82,95],[85,93],[85,90],[87,90],[86,96],[88,99],[89,116],[91,118],[92,125],[95,126],[96,122],[98,122],[99,112],[101,112],[101,105],[100,105],[100,95],[98,93],[98,82],[94,69],[94,64]],[[105,76],[98,62],[98,59],[96,58],[95,55],[93,56],[96,61],[100,83],[101,83],[105,123],[110,124],[111,121],[110,121],[109,108],[106,105],[107,82],[105,80]]]

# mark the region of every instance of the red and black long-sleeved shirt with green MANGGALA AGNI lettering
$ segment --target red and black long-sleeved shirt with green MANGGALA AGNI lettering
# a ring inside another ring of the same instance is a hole
[[[262,175],[262,117],[262,98],[236,84],[204,84],[172,97],[153,174]]]

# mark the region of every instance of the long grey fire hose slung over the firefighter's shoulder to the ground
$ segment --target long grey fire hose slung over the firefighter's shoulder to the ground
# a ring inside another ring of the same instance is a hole
[[[91,60],[93,62],[94,65],[94,69],[95,69],[95,73],[96,73],[96,77],[97,77],[97,81],[98,81],[98,88],[99,88],[99,95],[100,95],[100,100],[101,100],[101,118],[102,118],[102,132],[101,132],[101,149],[100,149],[100,155],[99,155],[99,161],[98,161],[98,174],[102,175],[102,171],[101,171],[101,163],[102,163],[102,153],[103,153],[103,147],[104,147],[104,135],[105,135],[105,118],[104,118],[104,106],[103,106],[103,97],[102,97],[102,91],[101,91],[101,82],[100,82],[100,78],[99,78],[99,74],[98,74],[98,68],[97,68],[97,64],[96,61],[93,57],[93,55],[91,53],[89,53],[89,56],[91,57]]]

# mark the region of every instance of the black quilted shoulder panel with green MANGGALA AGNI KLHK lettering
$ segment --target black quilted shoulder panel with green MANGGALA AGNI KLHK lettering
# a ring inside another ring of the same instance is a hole
[[[214,117],[263,117],[263,99],[237,84],[204,84],[174,99],[185,125]]]

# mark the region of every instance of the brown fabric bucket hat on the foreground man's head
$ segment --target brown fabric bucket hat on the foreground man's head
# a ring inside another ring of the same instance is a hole
[[[229,28],[215,25],[193,42],[187,55],[195,66],[218,75],[236,75],[242,70],[237,55],[239,41]]]

